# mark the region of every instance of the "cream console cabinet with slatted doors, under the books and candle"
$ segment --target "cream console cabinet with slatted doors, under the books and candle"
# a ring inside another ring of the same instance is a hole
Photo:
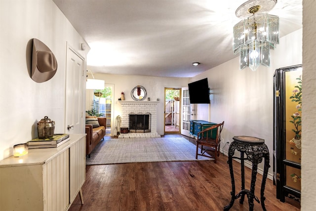
[[[65,211],[85,181],[85,134],[0,161],[0,211]]]

